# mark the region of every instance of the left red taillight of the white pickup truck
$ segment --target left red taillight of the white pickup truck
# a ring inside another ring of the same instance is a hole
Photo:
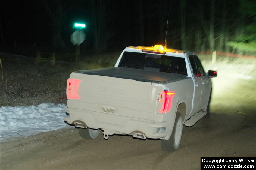
[[[78,88],[79,88],[79,84],[80,84],[79,79],[67,79],[67,99],[80,99],[81,97],[79,97],[78,94]]]

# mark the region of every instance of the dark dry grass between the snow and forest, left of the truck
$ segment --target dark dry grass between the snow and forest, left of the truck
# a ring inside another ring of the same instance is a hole
[[[75,63],[66,62],[56,62],[54,66],[51,61],[36,63],[34,58],[7,61],[8,57],[4,55],[0,107],[37,105],[43,102],[66,103],[66,82],[72,71],[113,67],[120,53],[87,55],[79,67]],[[10,58],[13,59],[13,55]]]

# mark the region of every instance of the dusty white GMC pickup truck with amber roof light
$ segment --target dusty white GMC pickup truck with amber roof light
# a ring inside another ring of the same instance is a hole
[[[183,125],[207,114],[211,77],[189,51],[131,46],[114,67],[81,70],[67,80],[67,117],[80,136],[95,139],[101,131],[134,138],[161,139],[164,151],[178,149]]]

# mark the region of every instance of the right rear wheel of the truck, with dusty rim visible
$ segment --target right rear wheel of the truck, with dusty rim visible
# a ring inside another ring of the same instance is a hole
[[[180,112],[177,112],[170,138],[168,140],[161,139],[161,148],[163,151],[174,152],[179,148],[182,137],[182,130],[183,118]]]

